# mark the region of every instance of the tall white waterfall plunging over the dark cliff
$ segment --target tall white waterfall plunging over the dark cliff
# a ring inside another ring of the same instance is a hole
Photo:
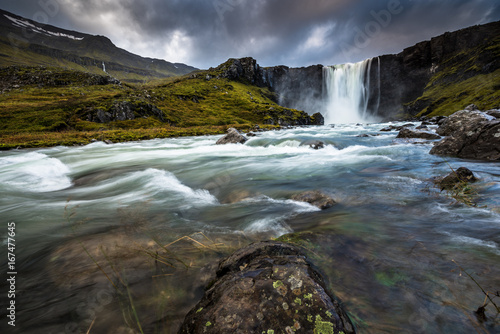
[[[371,123],[376,117],[370,114],[370,71],[374,59],[378,60],[378,97],[380,102],[380,60],[370,58],[359,63],[323,67],[325,88],[325,124]],[[376,110],[373,110],[376,111]],[[372,112],[373,112],[372,111]]]

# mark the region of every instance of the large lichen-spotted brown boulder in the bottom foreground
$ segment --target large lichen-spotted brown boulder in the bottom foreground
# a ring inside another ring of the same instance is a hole
[[[221,261],[181,334],[355,333],[322,275],[301,250],[268,241]]]

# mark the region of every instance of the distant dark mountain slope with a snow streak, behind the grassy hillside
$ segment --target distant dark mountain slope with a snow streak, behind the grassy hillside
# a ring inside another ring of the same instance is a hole
[[[42,25],[0,10],[0,67],[57,66],[119,80],[144,82],[184,75],[196,68],[143,58],[116,47],[104,36]]]

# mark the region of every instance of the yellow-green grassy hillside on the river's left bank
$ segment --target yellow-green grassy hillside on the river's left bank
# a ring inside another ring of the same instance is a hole
[[[311,121],[302,111],[278,106],[267,88],[218,74],[204,71],[131,85],[60,68],[1,68],[0,148],[216,134],[228,127]],[[102,115],[111,119],[103,122]]]

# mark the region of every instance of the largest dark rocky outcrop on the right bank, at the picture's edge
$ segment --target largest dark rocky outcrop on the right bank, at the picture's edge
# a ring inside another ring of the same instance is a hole
[[[461,110],[448,117],[438,128],[447,135],[431,154],[464,159],[500,160],[500,120],[478,110]]]

